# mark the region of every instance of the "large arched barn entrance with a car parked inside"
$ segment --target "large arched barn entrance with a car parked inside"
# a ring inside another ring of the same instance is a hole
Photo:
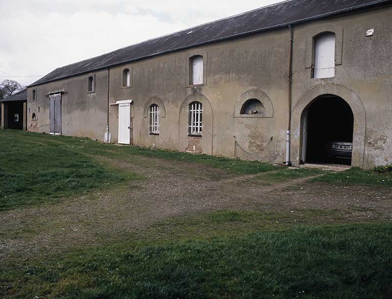
[[[302,160],[351,165],[354,115],[340,97],[324,95],[304,111]]]

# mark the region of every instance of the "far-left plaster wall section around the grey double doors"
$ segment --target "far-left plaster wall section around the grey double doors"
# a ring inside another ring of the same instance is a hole
[[[88,77],[95,75],[95,92],[88,93]],[[32,89],[36,101],[32,101]],[[107,70],[49,82],[27,90],[27,130],[49,133],[48,93],[64,90],[62,95],[62,134],[103,141],[107,124]],[[37,120],[32,120],[32,113]]]

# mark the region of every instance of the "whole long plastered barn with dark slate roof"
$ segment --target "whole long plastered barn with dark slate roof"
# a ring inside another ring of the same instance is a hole
[[[352,166],[391,164],[391,24],[391,0],[289,0],[199,25],[34,82],[27,130],[294,165],[332,144]]]

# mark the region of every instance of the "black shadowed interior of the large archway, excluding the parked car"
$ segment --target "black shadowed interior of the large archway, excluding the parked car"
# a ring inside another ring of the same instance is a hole
[[[352,142],[354,116],[348,103],[336,96],[324,96],[308,108],[306,162],[351,165],[351,159],[326,155],[328,142]]]

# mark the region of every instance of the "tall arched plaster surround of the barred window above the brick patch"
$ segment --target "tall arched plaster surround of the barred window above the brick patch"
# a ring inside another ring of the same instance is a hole
[[[202,134],[200,147],[203,153],[213,154],[213,134],[214,134],[214,113],[210,101],[202,94],[192,94],[188,96],[180,106],[178,118],[178,138],[181,149],[185,150],[190,144],[188,136],[189,128],[189,104],[200,102],[202,104]]]

